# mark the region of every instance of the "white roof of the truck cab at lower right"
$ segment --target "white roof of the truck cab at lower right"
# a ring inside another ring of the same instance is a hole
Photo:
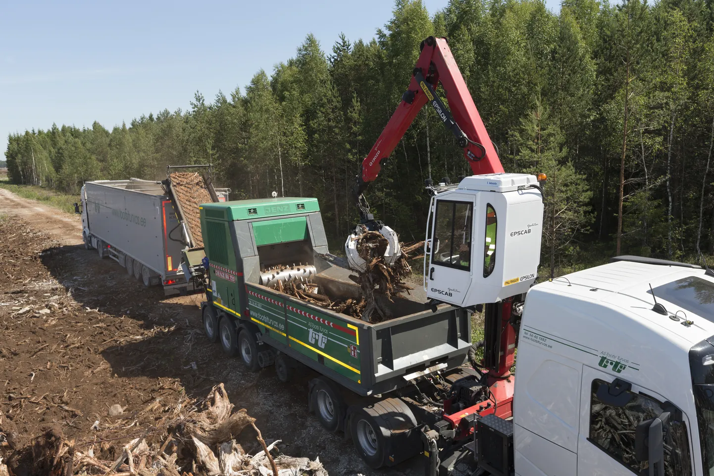
[[[537,284],[531,291],[538,289],[563,297],[610,304],[623,309],[625,314],[663,327],[690,344],[696,344],[714,335],[714,322],[711,322],[714,321],[714,315],[705,315],[708,314],[709,309],[712,309],[710,306],[714,306],[714,300],[709,301],[712,304],[703,307],[687,306],[688,309],[685,309],[680,305],[681,301],[671,302],[677,299],[667,300],[666,295],[661,295],[665,292],[658,292],[657,289],[660,286],[666,288],[670,283],[674,284],[669,288],[676,288],[678,284],[675,282],[684,283],[680,287],[688,287],[687,284],[691,281],[703,285],[697,290],[714,299],[714,294],[710,294],[709,288],[709,284],[714,287],[714,278],[705,275],[704,269],[630,261],[612,262],[566,274],[555,278],[553,282]],[[654,299],[650,293],[650,285],[655,289],[657,302],[663,304],[668,314],[675,314],[679,320],[652,310]],[[700,297],[700,299],[707,299],[707,297]],[[705,312],[699,311],[703,314],[700,315],[693,312],[693,308],[705,309]],[[685,320],[692,321],[693,324],[685,326],[682,324]]]

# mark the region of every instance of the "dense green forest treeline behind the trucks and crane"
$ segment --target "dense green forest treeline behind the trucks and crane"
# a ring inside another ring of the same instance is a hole
[[[714,249],[712,27],[702,0],[564,0],[559,14],[540,0],[451,0],[432,17],[421,1],[397,0],[376,39],[341,36],[325,51],[308,35],[270,75],[213,101],[196,93],[188,111],[111,132],[95,122],[11,135],[9,176],[76,192],[85,180],[159,179],[167,164],[210,162],[234,199],[318,197],[328,234],[343,239],[357,216],[354,176],[420,42],[446,36],[506,171],[548,174],[553,264],[583,242],[691,257]],[[435,119],[421,111],[368,190],[402,239],[423,237],[429,174],[470,172]]]

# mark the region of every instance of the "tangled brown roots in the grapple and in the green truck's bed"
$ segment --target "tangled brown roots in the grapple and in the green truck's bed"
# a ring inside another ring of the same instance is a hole
[[[366,322],[381,322],[391,319],[393,314],[383,304],[378,295],[385,296],[393,302],[392,297],[401,292],[409,293],[413,287],[406,284],[404,279],[411,273],[408,261],[417,259],[420,256],[412,256],[412,253],[423,249],[424,242],[413,244],[401,244],[401,256],[394,264],[387,264],[384,259],[384,252],[388,242],[379,232],[364,232],[354,239],[358,240],[357,251],[366,262],[364,272],[359,272],[356,283],[360,286],[360,297],[358,299],[331,299],[331,297],[321,294],[318,286],[311,282],[293,280],[290,282],[276,284],[276,289],[280,292],[290,294],[303,301],[315,304],[316,306],[330,309],[334,312],[341,312],[356,319]]]

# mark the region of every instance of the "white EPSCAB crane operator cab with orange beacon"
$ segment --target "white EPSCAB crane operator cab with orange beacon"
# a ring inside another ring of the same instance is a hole
[[[468,307],[523,294],[535,282],[543,232],[535,176],[466,177],[432,198],[430,215],[427,297]]]

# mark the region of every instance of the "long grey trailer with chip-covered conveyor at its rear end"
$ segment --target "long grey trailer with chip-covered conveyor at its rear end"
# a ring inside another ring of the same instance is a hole
[[[197,167],[208,167],[208,174],[171,172]],[[166,294],[184,294],[201,288],[183,262],[184,250],[203,246],[199,204],[225,202],[230,189],[213,188],[210,166],[170,166],[167,175],[162,182],[86,182],[81,192],[84,241],[146,286],[163,284]]]

